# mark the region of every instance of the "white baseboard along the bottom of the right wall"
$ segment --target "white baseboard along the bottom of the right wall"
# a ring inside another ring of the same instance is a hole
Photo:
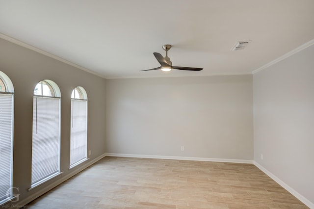
[[[281,181],[278,177],[276,177],[274,174],[269,172],[266,168],[264,168],[262,165],[260,165],[258,162],[254,160],[253,164],[258,167],[262,172],[264,172],[267,176],[269,176],[271,179],[273,179],[275,182],[277,182],[279,185],[284,187],[288,192],[290,192],[293,196],[298,198],[302,203],[304,203],[306,206],[308,206],[310,209],[314,209],[314,203],[312,203],[310,200],[302,196],[299,192],[295,191],[293,188],[291,188],[287,183],[284,183]]]

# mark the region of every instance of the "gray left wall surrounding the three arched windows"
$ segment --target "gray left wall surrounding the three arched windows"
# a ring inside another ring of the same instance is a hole
[[[3,39],[0,39],[0,71],[11,79],[15,90],[13,186],[19,188],[20,201],[84,165],[69,170],[71,93],[76,86],[84,87],[88,96],[88,150],[92,151],[89,158],[93,160],[105,153],[104,78]],[[31,185],[33,91],[43,79],[53,80],[61,90],[61,171],[64,173],[27,191]]]

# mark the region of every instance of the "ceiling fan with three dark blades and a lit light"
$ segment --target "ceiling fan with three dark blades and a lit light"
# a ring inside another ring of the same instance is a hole
[[[162,70],[162,71],[171,71],[172,69],[177,70],[190,70],[190,71],[201,71],[203,68],[190,68],[190,67],[178,67],[172,66],[172,62],[168,57],[168,51],[171,49],[171,45],[166,44],[162,45],[162,49],[166,51],[166,56],[163,57],[160,53],[154,52],[154,56],[156,57],[157,61],[160,63],[160,67],[152,68],[149,70],[140,70],[140,71],[150,71],[150,70]]]

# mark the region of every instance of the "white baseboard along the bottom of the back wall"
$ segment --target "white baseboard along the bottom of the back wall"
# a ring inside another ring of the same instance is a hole
[[[224,158],[207,158],[207,157],[179,157],[179,156],[154,156],[154,155],[133,155],[106,153],[106,156],[111,157],[138,157],[138,158],[155,158],[155,159],[178,159],[178,160],[195,160],[195,161],[211,161],[211,162],[232,162],[232,163],[247,163],[253,164],[253,160],[248,159],[224,159]]]

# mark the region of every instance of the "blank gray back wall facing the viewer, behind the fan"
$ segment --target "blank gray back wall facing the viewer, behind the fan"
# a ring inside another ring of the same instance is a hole
[[[251,75],[109,79],[106,101],[107,153],[253,160]]]

